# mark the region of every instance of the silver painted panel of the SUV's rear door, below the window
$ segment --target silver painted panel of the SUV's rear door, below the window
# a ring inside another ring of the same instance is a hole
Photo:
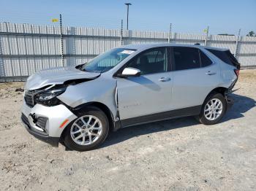
[[[173,109],[202,105],[208,93],[220,82],[217,64],[173,71]]]

